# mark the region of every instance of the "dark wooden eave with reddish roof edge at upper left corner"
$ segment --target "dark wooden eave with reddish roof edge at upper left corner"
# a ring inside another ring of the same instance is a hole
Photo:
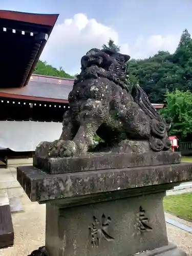
[[[0,10],[0,88],[26,86],[57,18]]]

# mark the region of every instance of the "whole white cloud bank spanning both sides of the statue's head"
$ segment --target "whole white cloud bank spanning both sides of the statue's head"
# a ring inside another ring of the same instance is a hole
[[[148,38],[138,36],[134,44],[121,44],[118,33],[113,28],[78,13],[55,25],[41,59],[57,68],[62,66],[66,72],[74,74],[80,70],[80,58],[91,48],[101,48],[110,37],[121,46],[122,53],[129,54],[132,58],[148,57],[158,50],[174,52],[179,40],[174,35],[152,35]]]

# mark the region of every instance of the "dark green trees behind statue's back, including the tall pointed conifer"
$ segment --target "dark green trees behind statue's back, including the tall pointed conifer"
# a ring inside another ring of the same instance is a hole
[[[137,80],[152,103],[162,103],[166,91],[192,92],[192,39],[185,29],[174,54],[159,51],[152,57],[127,63],[127,70]]]

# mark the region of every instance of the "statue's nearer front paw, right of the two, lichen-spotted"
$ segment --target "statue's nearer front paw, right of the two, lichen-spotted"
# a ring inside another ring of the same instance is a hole
[[[76,144],[72,140],[56,140],[50,145],[50,157],[72,157],[76,153]]]

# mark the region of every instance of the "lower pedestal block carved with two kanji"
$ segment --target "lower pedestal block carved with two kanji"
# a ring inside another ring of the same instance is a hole
[[[131,256],[167,245],[163,196],[156,193],[68,208],[47,204],[48,255]]]

